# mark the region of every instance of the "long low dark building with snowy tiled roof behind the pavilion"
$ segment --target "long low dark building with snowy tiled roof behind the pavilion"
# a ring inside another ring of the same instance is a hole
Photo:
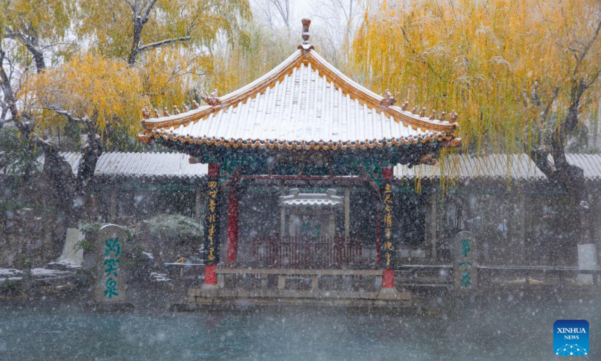
[[[76,174],[79,154],[66,152],[61,156]],[[94,177],[96,214],[105,221],[140,221],[170,213],[200,221],[206,208],[208,166],[191,164],[190,158],[185,153],[103,153]],[[588,187],[600,187],[601,155],[568,155],[568,159],[570,164],[587,169]],[[561,217],[567,198],[557,196],[561,191],[549,183],[527,155],[450,155],[443,163],[394,167],[395,189],[404,205],[397,216],[398,227],[405,234],[398,249],[403,264],[447,263],[450,240],[462,230],[474,233],[477,239],[487,239],[481,261],[486,264],[575,264],[573,242],[567,242],[564,251],[555,245],[569,238],[569,227],[562,224]],[[321,188],[306,185],[306,181],[285,181],[283,185],[247,188],[240,202],[240,244],[245,243],[242,234],[258,233],[259,226],[268,234],[280,229],[280,219],[273,215],[273,208],[279,209],[282,187],[288,194],[294,188],[320,193],[334,188],[344,197],[345,188],[340,184]],[[549,199],[548,194],[554,197]],[[365,243],[373,242],[374,229],[361,227],[365,210],[353,206],[367,205],[369,192],[351,189],[349,196],[349,235]],[[367,211],[367,217],[373,217],[373,209]],[[590,225],[594,239],[601,235],[600,217]],[[343,230],[344,218],[339,216],[337,224]],[[566,254],[571,256],[566,258]]]

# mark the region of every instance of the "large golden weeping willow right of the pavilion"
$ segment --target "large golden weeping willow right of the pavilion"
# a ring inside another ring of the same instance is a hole
[[[586,217],[566,149],[598,116],[600,30],[599,0],[384,2],[365,13],[353,65],[410,108],[456,110],[464,151],[531,154]]]

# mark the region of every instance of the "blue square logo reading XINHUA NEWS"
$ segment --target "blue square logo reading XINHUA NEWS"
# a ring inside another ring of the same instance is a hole
[[[559,356],[586,356],[588,350],[588,321],[558,319],[553,324],[553,353]]]

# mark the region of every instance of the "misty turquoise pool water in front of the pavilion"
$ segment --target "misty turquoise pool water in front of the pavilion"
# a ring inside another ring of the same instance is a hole
[[[590,322],[601,360],[599,300],[469,307],[459,319],[343,309],[85,312],[0,309],[0,360],[554,360],[557,319]]]

